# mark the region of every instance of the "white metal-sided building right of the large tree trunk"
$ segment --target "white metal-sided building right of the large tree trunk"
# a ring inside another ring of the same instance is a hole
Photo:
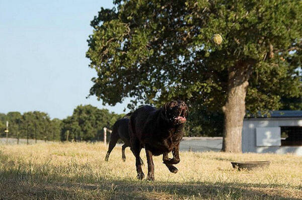
[[[273,111],[269,118],[245,118],[242,151],[302,156],[302,111]]]

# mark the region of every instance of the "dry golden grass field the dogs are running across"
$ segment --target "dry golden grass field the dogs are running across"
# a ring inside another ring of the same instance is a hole
[[[302,158],[181,152],[177,174],[155,157],[156,180],[136,180],[134,157],[102,143],[0,146],[0,199],[302,199]],[[141,152],[145,161],[144,151]],[[270,160],[238,171],[231,161]],[[146,174],[146,166],[143,168]]]

